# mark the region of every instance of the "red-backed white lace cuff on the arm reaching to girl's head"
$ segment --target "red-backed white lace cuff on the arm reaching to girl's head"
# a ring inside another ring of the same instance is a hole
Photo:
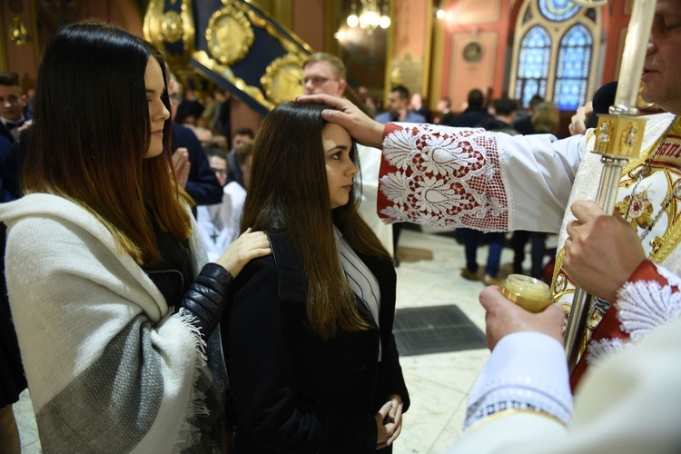
[[[497,133],[413,123],[390,124],[385,131],[382,218],[508,231]]]

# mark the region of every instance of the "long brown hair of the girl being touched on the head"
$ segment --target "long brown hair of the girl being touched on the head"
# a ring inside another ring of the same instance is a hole
[[[367,329],[338,260],[333,224],[357,252],[390,259],[350,202],[331,212],[321,132],[324,104],[284,103],[262,123],[253,146],[251,186],[243,207],[242,231],[284,232],[301,254],[308,278],[307,315],[321,338],[337,328]],[[356,161],[353,146],[351,158]]]

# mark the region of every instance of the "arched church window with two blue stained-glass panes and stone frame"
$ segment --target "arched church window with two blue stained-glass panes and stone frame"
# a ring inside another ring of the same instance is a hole
[[[590,99],[597,74],[599,9],[568,0],[523,0],[518,12],[510,95],[528,104],[540,94],[561,110]]]

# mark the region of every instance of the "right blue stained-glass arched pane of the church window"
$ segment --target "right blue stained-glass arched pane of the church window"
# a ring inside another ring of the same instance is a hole
[[[553,101],[561,110],[575,110],[587,96],[593,37],[586,26],[577,24],[560,40]]]

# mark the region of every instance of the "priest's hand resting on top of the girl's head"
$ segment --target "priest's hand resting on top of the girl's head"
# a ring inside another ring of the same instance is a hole
[[[332,109],[321,113],[324,120],[342,126],[362,145],[381,148],[385,126],[372,120],[347,99],[337,98],[329,94],[308,94],[298,96],[296,102],[327,104]]]

